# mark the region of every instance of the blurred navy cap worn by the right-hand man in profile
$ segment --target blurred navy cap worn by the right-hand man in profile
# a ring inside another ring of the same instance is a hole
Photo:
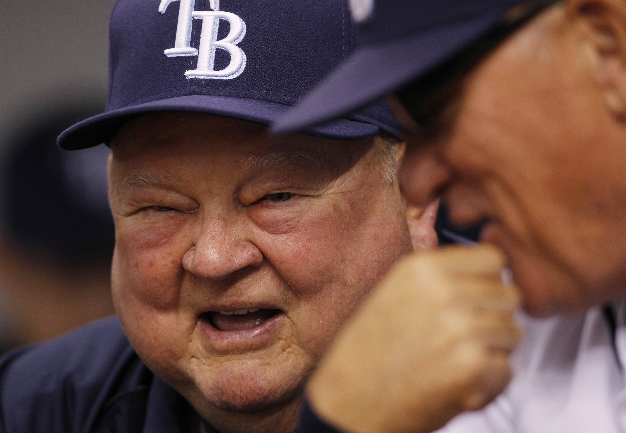
[[[286,133],[344,115],[437,71],[520,6],[555,0],[351,0],[361,47],[273,126]]]

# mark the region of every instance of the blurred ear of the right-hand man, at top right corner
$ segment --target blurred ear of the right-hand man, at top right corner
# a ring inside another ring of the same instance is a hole
[[[570,17],[580,23],[592,78],[611,115],[626,121],[626,2],[568,0]]]

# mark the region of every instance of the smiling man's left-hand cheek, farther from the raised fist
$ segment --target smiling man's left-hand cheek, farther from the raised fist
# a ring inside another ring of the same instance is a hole
[[[179,311],[186,225],[118,222],[116,229],[113,300],[125,333],[151,369],[185,380],[177,365],[193,332],[193,321]]]

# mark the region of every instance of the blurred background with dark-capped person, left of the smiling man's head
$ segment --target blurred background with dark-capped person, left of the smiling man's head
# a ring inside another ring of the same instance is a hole
[[[0,352],[113,312],[108,149],[54,140],[104,108],[114,4],[0,1]]]

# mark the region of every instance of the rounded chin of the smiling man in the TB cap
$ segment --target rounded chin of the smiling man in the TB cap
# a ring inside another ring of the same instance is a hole
[[[203,399],[227,412],[262,412],[299,398],[311,368],[280,362],[225,363],[213,374],[195,378]]]

